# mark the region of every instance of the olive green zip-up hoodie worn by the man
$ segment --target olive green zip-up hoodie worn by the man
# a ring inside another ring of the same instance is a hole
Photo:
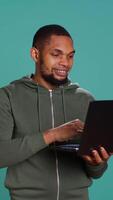
[[[70,82],[49,91],[24,77],[0,89],[0,167],[8,167],[12,200],[87,199],[91,178],[107,164],[90,166],[76,153],[51,149],[43,132],[76,118],[85,121],[92,100]]]

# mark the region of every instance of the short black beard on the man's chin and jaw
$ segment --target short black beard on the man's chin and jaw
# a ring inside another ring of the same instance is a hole
[[[42,77],[45,81],[47,81],[48,83],[50,83],[51,85],[54,85],[54,86],[60,86],[60,85],[66,84],[68,82],[67,77],[63,80],[58,80],[58,79],[54,78],[54,76],[52,74],[47,75],[47,74],[42,73]]]

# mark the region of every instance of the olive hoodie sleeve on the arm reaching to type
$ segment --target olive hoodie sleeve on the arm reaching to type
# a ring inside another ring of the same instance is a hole
[[[13,138],[14,128],[10,101],[0,89],[0,167],[22,162],[47,147],[42,133]]]

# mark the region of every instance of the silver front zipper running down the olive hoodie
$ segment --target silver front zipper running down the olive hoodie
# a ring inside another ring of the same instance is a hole
[[[50,92],[50,103],[51,103],[52,128],[54,128],[55,120],[54,120],[54,109],[53,109],[53,94],[52,94],[52,90],[49,90],[49,92]],[[56,158],[56,176],[57,176],[57,198],[56,198],[56,200],[59,200],[60,184],[59,184],[58,157],[57,157],[56,149],[55,149],[55,158]]]

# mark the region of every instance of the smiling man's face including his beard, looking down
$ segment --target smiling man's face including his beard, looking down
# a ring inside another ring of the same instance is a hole
[[[74,52],[73,42],[69,37],[51,36],[39,51],[37,77],[51,85],[65,83],[73,64]]]

